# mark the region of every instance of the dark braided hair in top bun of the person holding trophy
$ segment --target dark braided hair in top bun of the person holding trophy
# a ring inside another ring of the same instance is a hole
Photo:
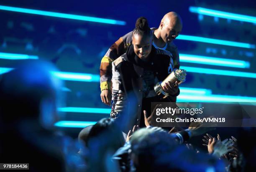
[[[134,35],[151,35],[151,29],[148,27],[148,20],[145,17],[139,17],[136,20],[135,28],[133,29]]]

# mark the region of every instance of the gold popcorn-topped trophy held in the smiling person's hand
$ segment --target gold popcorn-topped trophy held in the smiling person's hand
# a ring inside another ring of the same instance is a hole
[[[184,69],[174,69],[172,73],[165,78],[163,82],[157,82],[154,86],[154,90],[157,95],[164,95],[164,98],[168,97],[169,94],[163,90],[163,86],[167,83],[172,87],[176,87],[176,85],[180,85],[182,82],[186,80],[186,70]]]

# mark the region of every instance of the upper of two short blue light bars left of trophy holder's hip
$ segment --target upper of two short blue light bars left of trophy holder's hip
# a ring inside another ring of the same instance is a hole
[[[103,113],[110,114],[111,109],[91,108],[91,107],[60,107],[60,112],[78,112],[78,113]]]

